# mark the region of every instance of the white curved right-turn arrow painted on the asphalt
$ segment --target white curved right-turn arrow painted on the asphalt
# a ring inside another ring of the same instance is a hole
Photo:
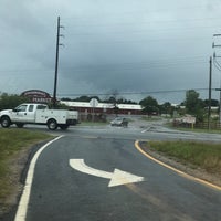
[[[94,169],[85,165],[84,159],[70,159],[70,166],[73,169],[87,175],[110,179],[108,187],[144,181],[144,177],[138,177],[119,169],[115,169],[114,172],[106,172],[103,170]]]

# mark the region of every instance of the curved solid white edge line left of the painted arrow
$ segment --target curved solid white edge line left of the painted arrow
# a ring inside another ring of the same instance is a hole
[[[36,151],[34,157],[32,158],[31,164],[29,166],[29,171],[28,171],[28,175],[27,175],[24,189],[23,189],[20,202],[19,202],[19,207],[18,207],[18,210],[17,210],[14,221],[25,221],[25,219],[27,219],[27,211],[28,211],[31,187],[32,187],[32,181],[33,181],[33,176],[34,176],[34,168],[35,168],[36,160],[38,160],[39,156],[49,145],[51,145],[52,143],[56,141],[57,139],[60,139],[62,137],[63,137],[63,135],[51,140],[51,141],[49,141],[48,144],[45,144],[43,147],[41,147]]]

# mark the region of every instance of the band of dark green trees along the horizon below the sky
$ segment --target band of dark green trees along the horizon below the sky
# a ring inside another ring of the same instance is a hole
[[[117,95],[109,96],[108,98],[101,99],[98,96],[80,96],[77,98],[62,98],[62,101],[73,101],[73,102],[90,102],[92,98],[96,98],[101,103],[114,104],[117,107],[117,104],[139,104],[143,107],[144,114],[168,114],[172,115],[175,110],[179,114],[190,114],[197,117],[198,122],[203,122],[207,115],[207,107],[209,106],[208,99],[201,99],[200,94],[194,90],[189,90],[186,92],[186,99],[178,105],[177,107],[172,106],[169,102],[159,104],[156,98],[152,96],[147,96],[141,99],[139,103],[133,102],[130,99],[118,98]],[[9,95],[7,93],[1,94],[0,96],[0,109],[14,108],[21,103],[29,102],[27,97],[20,95]],[[181,108],[185,106],[185,108]],[[211,106],[219,107],[219,102],[217,99],[211,99]]]

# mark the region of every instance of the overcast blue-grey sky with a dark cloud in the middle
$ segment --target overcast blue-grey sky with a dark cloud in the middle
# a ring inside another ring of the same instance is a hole
[[[0,92],[53,94],[60,15],[59,97],[117,91],[180,103],[185,90],[200,88],[208,98],[220,11],[220,0],[0,0]],[[220,76],[213,65],[212,87]]]

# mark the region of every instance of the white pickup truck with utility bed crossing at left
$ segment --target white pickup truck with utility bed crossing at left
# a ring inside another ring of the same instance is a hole
[[[57,127],[67,129],[70,125],[78,123],[78,112],[66,109],[49,109],[44,104],[21,104],[14,109],[0,112],[0,124],[2,127],[10,127],[15,124],[23,127],[24,124],[46,125],[49,129]]]

